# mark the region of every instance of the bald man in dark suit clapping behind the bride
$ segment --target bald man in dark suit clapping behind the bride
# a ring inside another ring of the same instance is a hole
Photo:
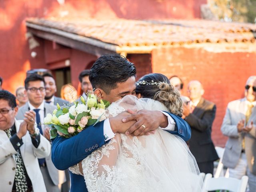
[[[191,128],[189,148],[200,172],[213,174],[213,162],[219,158],[211,138],[216,105],[202,98],[204,89],[199,81],[189,82],[188,94],[190,102],[184,104],[182,118]]]

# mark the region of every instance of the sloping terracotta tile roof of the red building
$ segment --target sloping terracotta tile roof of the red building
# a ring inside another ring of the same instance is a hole
[[[122,46],[255,42],[256,25],[206,20],[29,18],[27,22]]]

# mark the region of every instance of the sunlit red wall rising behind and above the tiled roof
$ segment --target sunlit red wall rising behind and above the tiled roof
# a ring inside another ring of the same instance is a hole
[[[44,44],[39,40],[36,58],[31,58],[26,40],[27,17],[65,16],[84,18],[199,18],[200,4],[207,0],[4,0],[0,1],[0,76],[3,88],[15,92],[23,85],[25,72],[45,67]],[[73,61],[73,63],[79,62]],[[73,74],[75,76],[76,74]],[[73,77],[72,78],[75,78]]]

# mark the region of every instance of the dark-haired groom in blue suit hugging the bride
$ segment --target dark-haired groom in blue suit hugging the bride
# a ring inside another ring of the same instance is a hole
[[[108,54],[96,60],[89,78],[94,93],[112,103],[126,95],[136,95],[135,76],[136,68],[132,62],[118,54]],[[56,168],[65,170],[106,144],[117,132],[137,136],[148,134],[158,127],[185,141],[191,136],[188,124],[174,114],[149,110],[141,110],[132,115],[122,112],[95,126],[88,126],[72,138],[57,136],[52,140],[52,161]],[[83,176],[70,172],[70,178],[70,192],[87,191]]]

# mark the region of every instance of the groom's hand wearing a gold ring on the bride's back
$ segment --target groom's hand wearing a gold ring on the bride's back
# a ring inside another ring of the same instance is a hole
[[[133,113],[132,110],[127,112]],[[135,114],[125,117],[122,122],[130,122],[136,120],[126,132],[126,135],[134,136],[147,135],[148,132],[156,130],[158,127],[167,127],[168,118],[160,111],[140,110]],[[144,125],[144,126],[142,126]]]

